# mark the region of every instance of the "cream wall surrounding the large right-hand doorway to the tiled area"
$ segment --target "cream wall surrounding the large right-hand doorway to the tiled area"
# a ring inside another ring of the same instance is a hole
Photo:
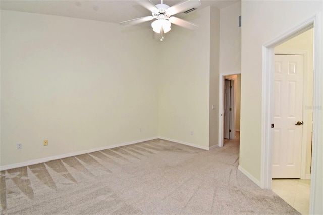
[[[241,59],[241,127],[240,127],[240,167],[249,177],[261,180],[261,141],[262,141],[262,45],[269,42],[306,19],[323,12],[322,1],[242,1],[242,59]],[[320,28],[316,29],[321,32]],[[322,38],[317,38],[322,41]],[[322,53],[322,43],[318,43],[317,53]],[[321,61],[320,61],[321,62]],[[320,63],[321,64],[321,63]],[[319,72],[319,71],[318,71]],[[321,72],[321,71],[320,71]],[[317,83],[321,82],[316,80]],[[321,86],[321,84],[320,84]],[[316,93],[323,96],[322,88]],[[318,112],[319,113],[319,112]],[[322,125],[322,114],[317,120]],[[315,203],[313,213],[323,213],[321,202],[323,189],[321,143],[323,135],[317,134],[318,147],[317,175],[311,183],[316,184],[312,201]]]

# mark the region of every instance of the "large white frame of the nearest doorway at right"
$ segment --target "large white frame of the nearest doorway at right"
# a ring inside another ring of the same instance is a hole
[[[273,119],[273,69],[274,69],[274,47],[287,40],[313,28],[313,140],[312,140],[312,166],[311,166],[311,188],[309,213],[315,213],[319,207],[321,191],[316,189],[316,183],[321,180],[322,174],[322,146],[323,142],[323,114],[321,104],[323,103],[323,32],[321,13],[308,18],[296,27],[286,31],[284,34],[263,44],[262,46],[262,126],[261,126],[261,172],[260,186],[264,189],[272,188],[272,129]],[[319,183],[319,182],[318,182]],[[316,198],[317,197],[317,198]]]

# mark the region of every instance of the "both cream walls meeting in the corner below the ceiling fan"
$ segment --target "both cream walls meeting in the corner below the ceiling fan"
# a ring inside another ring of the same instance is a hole
[[[1,166],[156,136],[216,145],[219,18],[204,8],[185,17],[198,30],[160,42],[150,28],[3,10]]]

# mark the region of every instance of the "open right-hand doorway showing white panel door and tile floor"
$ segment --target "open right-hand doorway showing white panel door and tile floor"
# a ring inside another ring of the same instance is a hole
[[[297,211],[308,214],[313,120],[308,107],[313,104],[313,29],[276,46],[274,62],[272,190]]]

